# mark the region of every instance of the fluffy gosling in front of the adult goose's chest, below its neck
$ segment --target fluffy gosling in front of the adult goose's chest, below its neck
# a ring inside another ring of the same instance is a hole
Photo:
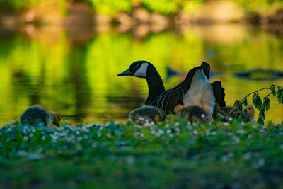
[[[135,110],[132,110],[131,113],[129,113],[129,119],[134,122],[139,122],[141,124],[144,124],[144,122],[154,122],[155,124],[158,122],[161,122],[165,120],[166,113],[164,113],[163,110],[151,106],[146,105],[141,108],[137,108]]]

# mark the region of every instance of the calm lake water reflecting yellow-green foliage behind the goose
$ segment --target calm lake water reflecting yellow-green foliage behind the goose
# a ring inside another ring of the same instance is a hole
[[[156,66],[166,89],[185,79],[192,67],[209,62],[210,80],[222,81],[227,105],[271,84],[283,86],[282,78],[268,75],[235,76],[251,69],[283,71],[283,37],[275,33],[236,24],[145,31],[33,25],[17,32],[1,29],[0,125],[17,121],[31,105],[58,111],[62,123],[126,121],[128,113],[144,103],[148,89],[145,79],[117,74],[141,59]],[[178,74],[169,76],[168,69]],[[283,105],[273,96],[270,100],[266,120],[282,122]]]

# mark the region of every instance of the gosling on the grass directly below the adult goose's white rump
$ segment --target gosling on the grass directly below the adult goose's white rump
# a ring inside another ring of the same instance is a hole
[[[177,116],[185,118],[185,120],[192,122],[212,122],[212,116],[210,116],[203,108],[197,105],[188,106],[182,108],[182,105],[176,105],[174,112]]]

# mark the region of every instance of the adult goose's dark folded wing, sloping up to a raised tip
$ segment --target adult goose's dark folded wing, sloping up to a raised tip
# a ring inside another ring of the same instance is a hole
[[[192,77],[195,74],[195,71],[198,69],[203,69],[204,74],[209,78],[210,66],[207,62],[202,62],[200,67],[195,67],[189,71],[184,81],[180,82],[178,86],[171,88],[170,90],[164,91],[152,102],[151,105],[154,105],[158,108],[161,108],[165,113],[173,112],[175,105],[183,105],[183,96],[184,93],[190,88],[192,82]]]

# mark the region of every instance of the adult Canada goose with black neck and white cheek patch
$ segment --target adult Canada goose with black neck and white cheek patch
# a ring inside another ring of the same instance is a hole
[[[154,65],[144,60],[132,63],[129,69],[118,76],[136,76],[146,79],[149,96],[144,105],[156,106],[167,114],[173,112],[175,105],[178,104],[184,107],[198,105],[212,115],[216,103],[219,107],[225,106],[225,94],[220,81],[212,84],[209,82],[209,71],[209,64],[202,62],[200,67],[189,71],[184,81],[167,91]]]

